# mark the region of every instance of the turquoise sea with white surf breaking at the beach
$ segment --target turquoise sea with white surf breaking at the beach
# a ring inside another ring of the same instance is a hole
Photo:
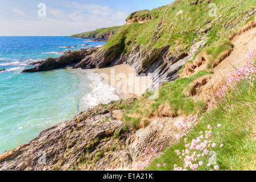
[[[81,69],[20,73],[32,67],[27,65],[32,61],[59,57],[60,51],[68,49],[66,46],[80,49],[84,48],[82,44],[91,47],[105,43],[64,37],[0,36],[0,69],[7,69],[0,72],[0,154],[30,142],[40,131],[67,121],[88,107],[118,99],[108,94],[100,81],[97,86],[101,88],[95,90],[95,75]],[[102,89],[109,96],[107,100],[98,93]]]

